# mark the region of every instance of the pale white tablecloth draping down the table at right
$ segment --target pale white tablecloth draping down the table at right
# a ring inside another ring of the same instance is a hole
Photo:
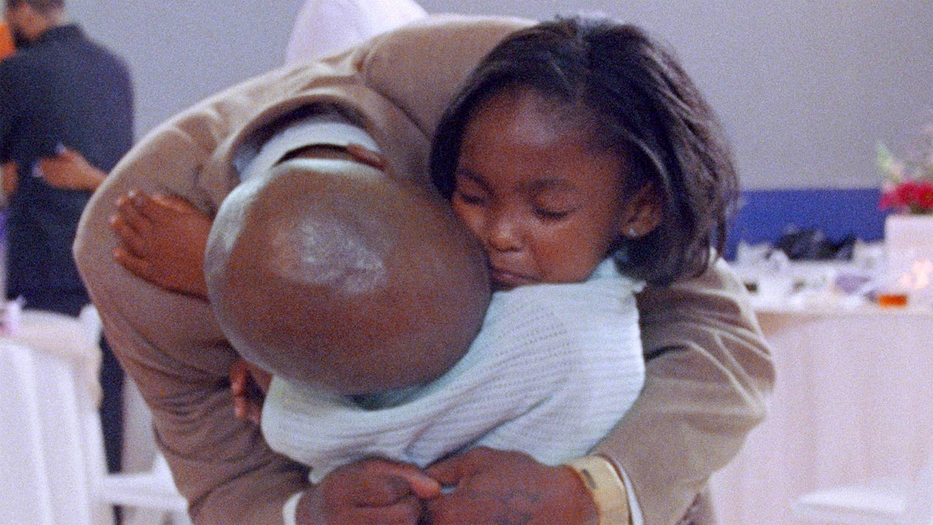
[[[722,525],[795,524],[810,490],[908,477],[933,451],[933,313],[759,313],[777,381],[768,419],[714,476]]]

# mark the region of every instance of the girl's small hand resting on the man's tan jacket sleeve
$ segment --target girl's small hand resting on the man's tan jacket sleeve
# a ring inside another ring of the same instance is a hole
[[[180,197],[121,195],[110,226],[121,246],[114,259],[138,277],[169,291],[207,300],[204,248],[211,220]]]

